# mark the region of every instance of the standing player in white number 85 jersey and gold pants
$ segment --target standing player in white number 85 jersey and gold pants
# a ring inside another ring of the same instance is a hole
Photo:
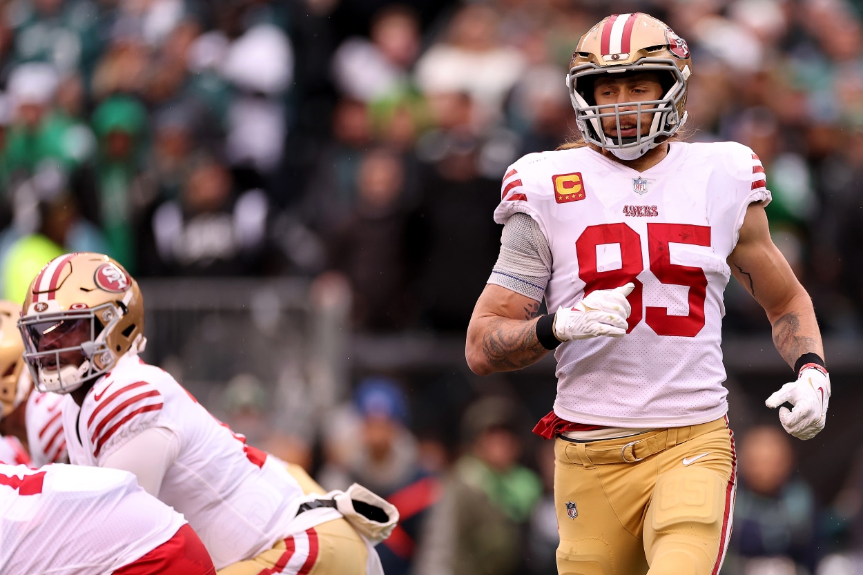
[[[722,293],[765,309],[793,367],[766,403],[788,433],[824,427],[830,384],[809,295],[772,243],[764,168],[735,142],[674,138],[686,120],[686,42],[640,13],[583,35],[566,84],[583,142],[504,176],[501,254],[470,320],[477,374],[550,350],[555,505],[566,573],[715,575],[736,485],[725,417]],[[537,317],[545,298],[548,315]]]

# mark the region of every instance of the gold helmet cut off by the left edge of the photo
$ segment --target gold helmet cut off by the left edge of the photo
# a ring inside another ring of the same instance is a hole
[[[21,306],[0,300],[0,420],[27,398],[30,376],[24,370],[24,344],[16,322]]]

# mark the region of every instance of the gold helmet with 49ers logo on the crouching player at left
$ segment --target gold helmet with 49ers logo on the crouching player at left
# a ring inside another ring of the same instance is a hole
[[[137,282],[109,256],[87,252],[55,257],[41,269],[18,327],[40,391],[72,392],[146,344]]]

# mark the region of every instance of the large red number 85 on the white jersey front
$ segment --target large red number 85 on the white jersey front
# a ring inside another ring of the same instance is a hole
[[[604,243],[620,245],[620,269],[598,271],[596,269],[596,246]],[[690,288],[690,312],[687,315],[669,315],[667,307],[647,306],[644,318],[647,325],[658,335],[694,338],[704,327],[704,299],[707,294],[707,276],[704,270],[671,263],[669,243],[691,243],[710,245],[710,228],[692,224],[647,224],[647,253],[650,271],[662,283]],[[642,318],[644,286],[636,279],[644,270],[641,257],[641,237],[627,224],[590,225],[576,240],[578,254],[578,277],[586,284],[584,294],[595,289],[613,289],[632,281],[633,293],[627,300],[633,306],[629,316],[629,329],[638,325]]]

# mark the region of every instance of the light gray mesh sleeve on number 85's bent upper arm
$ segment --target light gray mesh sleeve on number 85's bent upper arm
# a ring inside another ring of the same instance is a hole
[[[551,279],[551,248],[539,224],[526,213],[514,213],[503,226],[501,254],[488,283],[541,301]]]

